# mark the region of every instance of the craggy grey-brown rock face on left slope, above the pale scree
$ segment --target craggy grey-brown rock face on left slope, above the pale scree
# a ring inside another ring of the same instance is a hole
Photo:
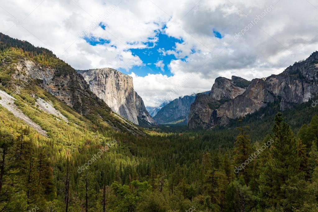
[[[3,66],[6,66],[3,63]],[[101,100],[89,90],[84,78],[65,64],[59,68],[38,64],[27,58],[20,58],[15,64],[14,79],[26,83],[37,80],[37,84],[56,96],[80,114],[87,114],[91,108],[87,105],[100,106]],[[105,104],[107,111],[111,109]]]

